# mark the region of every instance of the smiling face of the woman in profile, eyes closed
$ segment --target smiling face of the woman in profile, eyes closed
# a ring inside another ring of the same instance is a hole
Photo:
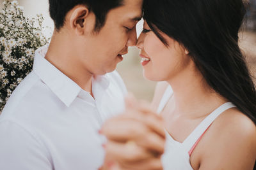
[[[195,66],[187,50],[174,39],[161,33],[168,42],[165,46],[144,21],[143,32],[138,38],[137,47],[141,50],[143,75],[152,81],[168,81],[186,73]]]

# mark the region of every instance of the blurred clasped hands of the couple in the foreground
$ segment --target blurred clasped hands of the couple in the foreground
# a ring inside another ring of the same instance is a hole
[[[108,138],[104,144],[106,159],[101,169],[163,169],[165,132],[163,119],[150,105],[127,97],[126,110],[102,126]]]

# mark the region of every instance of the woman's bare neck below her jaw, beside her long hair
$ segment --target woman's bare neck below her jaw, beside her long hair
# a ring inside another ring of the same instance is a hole
[[[172,86],[172,113],[186,118],[199,118],[227,102],[207,85],[199,71],[184,71],[168,80]]]

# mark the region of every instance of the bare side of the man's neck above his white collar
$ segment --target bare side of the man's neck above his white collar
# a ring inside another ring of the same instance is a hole
[[[55,32],[54,32],[55,34]],[[45,59],[59,69],[63,74],[92,94],[93,74],[84,69],[81,63],[74,57],[76,52],[72,50],[70,41],[65,36],[52,36],[51,43],[45,55]]]

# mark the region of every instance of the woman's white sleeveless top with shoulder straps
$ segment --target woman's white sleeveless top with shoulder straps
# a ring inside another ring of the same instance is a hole
[[[157,113],[161,113],[164,106],[168,103],[170,97],[173,94],[172,87],[170,85],[167,87],[164,95],[159,103]],[[162,163],[164,170],[190,170],[193,169],[190,164],[189,150],[195,145],[196,141],[204,134],[207,128],[212,124],[212,122],[221,114],[223,111],[229,108],[236,107],[232,103],[225,103],[221,105],[216,110],[212,111],[191,134],[188,138],[184,140],[183,143],[175,141],[172,136],[166,131],[166,146],[164,149],[164,154],[162,156]]]

